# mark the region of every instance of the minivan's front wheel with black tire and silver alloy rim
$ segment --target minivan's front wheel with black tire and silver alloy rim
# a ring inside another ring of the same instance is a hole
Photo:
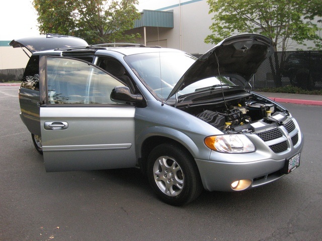
[[[174,206],[192,202],[202,191],[194,159],[176,145],[162,144],[151,151],[147,159],[147,178],[155,194]]]

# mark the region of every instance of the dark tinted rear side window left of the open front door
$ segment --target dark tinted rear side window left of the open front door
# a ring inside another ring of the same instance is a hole
[[[22,77],[21,87],[39,90],[39,56],[31,56]]]

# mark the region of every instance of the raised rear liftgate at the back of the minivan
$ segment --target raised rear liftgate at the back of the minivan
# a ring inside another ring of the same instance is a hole
[[[14,48],[25,47],[34,53],[56,48],[88,46],[88,43],[84,39],[76,37],[47,34],[13,40],[10,42],[10,46]]]

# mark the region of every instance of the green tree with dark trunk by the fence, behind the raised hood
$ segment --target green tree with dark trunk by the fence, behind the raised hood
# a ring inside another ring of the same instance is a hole
[[[305,46],[310,40],[315,48],[322,47],[318,26],[312,21],[322,16],[320,0],[208,0],[209,14],[214,21],[209,27],[213,34],[206,43],[218,43],[234,33],[260,33],[273,42],[274,50],[286,51],[294,43]],[[282,85],[285,53],[278,59],[270,58],[272,74],[277,87]]]

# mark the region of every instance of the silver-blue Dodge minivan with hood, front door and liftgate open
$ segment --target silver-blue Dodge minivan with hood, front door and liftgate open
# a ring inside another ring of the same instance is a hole
[[[251,91],[273,53],[262,35],[227,38],[199,59],[59,35],[11,45],[32,52],[21,118],[47,172],[139,167],[161,200],[183,205],[203,189],[251,189],[300,164],[296,120]]]

